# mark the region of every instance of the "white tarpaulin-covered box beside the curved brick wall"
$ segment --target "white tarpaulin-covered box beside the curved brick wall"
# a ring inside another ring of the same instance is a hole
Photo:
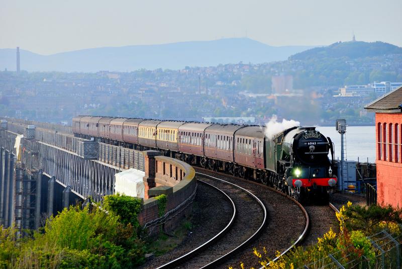
[[[144,198],[143,176],[145,172],[133,168],[115,174],[115,193]]]

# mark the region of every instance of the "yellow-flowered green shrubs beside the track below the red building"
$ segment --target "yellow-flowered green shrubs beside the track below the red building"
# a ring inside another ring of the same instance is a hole
[[[370,239],[367,237],[383,229],[392,234],[400,235],[402,224],[402,210],[391,206],[372,205],[369,207],[352,205],[342,206],[336,214],[340,225],[340,234],[336,235],[332,229],[318,238],[318,243],[306,248],[296,247],[287,254],[280,256],[269,264],[269,268],[300,268],[309,264],[310,268],[322,268],[332,260],[328,254],[333,254],[343,264],[363,267],[373,267],[377,260],[377,254]],[[268,267],[270,261],[267,251],[254,249],[254,255],[260,259],[263,267]],[[240,264],[244,267],[244,264]]]

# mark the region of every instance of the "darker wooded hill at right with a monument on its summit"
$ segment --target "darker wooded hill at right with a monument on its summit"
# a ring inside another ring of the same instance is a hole
[[[310,60],[323,58],[350,59],[375,57],[389,54],[402,54],[402,48],[384,42],[349,41],[337,42],[325,47],[316,47],[289,57],[290,60]]]

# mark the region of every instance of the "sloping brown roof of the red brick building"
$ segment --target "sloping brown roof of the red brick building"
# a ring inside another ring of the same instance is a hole
[[[402,87],[381,96],[364,108],[375,112],[402,112]]]

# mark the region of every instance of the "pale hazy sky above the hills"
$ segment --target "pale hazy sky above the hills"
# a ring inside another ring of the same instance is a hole
[[[83,48],[244,37],[273,45],[356,39],[402,46],[401,0],[0,0],[0,48]]]

